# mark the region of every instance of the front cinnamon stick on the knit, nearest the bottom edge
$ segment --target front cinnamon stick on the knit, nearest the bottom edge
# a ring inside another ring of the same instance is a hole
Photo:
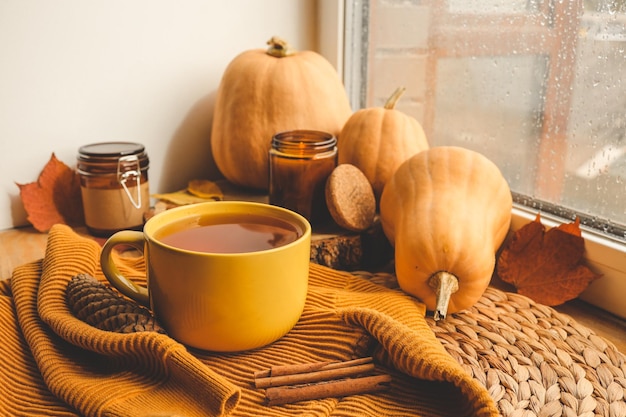
[[[390,382],[390,375],[374,375],[316,384],[271,387],[265,391],[265,398],[270,406],[290,404],[327,397],[379,392],[388,389]]]

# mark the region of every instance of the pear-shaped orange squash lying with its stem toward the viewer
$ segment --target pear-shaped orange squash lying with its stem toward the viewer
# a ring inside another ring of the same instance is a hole
[[[409,158],[380,202],[400,287],[437,320],[471,307],[489,285],[511,208],[507,181],[478,152],[433,147]]]

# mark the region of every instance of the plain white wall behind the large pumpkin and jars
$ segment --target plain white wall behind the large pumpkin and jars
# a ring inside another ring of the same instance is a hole
[[[273,35],[315,49],[315,16],[315,0],[1,0],[0,229],[26,224],[16,182],[87,143],[143,143],[152,192],[215,177],[226,65]]]

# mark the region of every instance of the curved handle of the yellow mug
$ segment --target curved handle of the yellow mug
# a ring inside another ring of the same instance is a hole
[[[100,267],[102,268],[102,272],[104,273],[106,279],[109,280],[111,285],[117,288],[122,294],[137,301],[139,304],[150,307],[148,289],[137,285],[130,279],[126,278],[120,273],[117,265],[115,265],[115,262],[111,257],[111,251],[117,245],[130,245],[139,250],[141,253],[144,253],[143,232],[122,230],[109,237],[109,239],[104,242],[104,246],[102,246],[102,252],[100,253]]]

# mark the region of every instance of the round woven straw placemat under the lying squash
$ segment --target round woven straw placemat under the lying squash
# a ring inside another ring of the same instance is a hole
[[[397,286],[392,274],[355,274]],[[551,307],[489,287],[472,308],[427,320],[505,417],[626,417],[626,356]]]

